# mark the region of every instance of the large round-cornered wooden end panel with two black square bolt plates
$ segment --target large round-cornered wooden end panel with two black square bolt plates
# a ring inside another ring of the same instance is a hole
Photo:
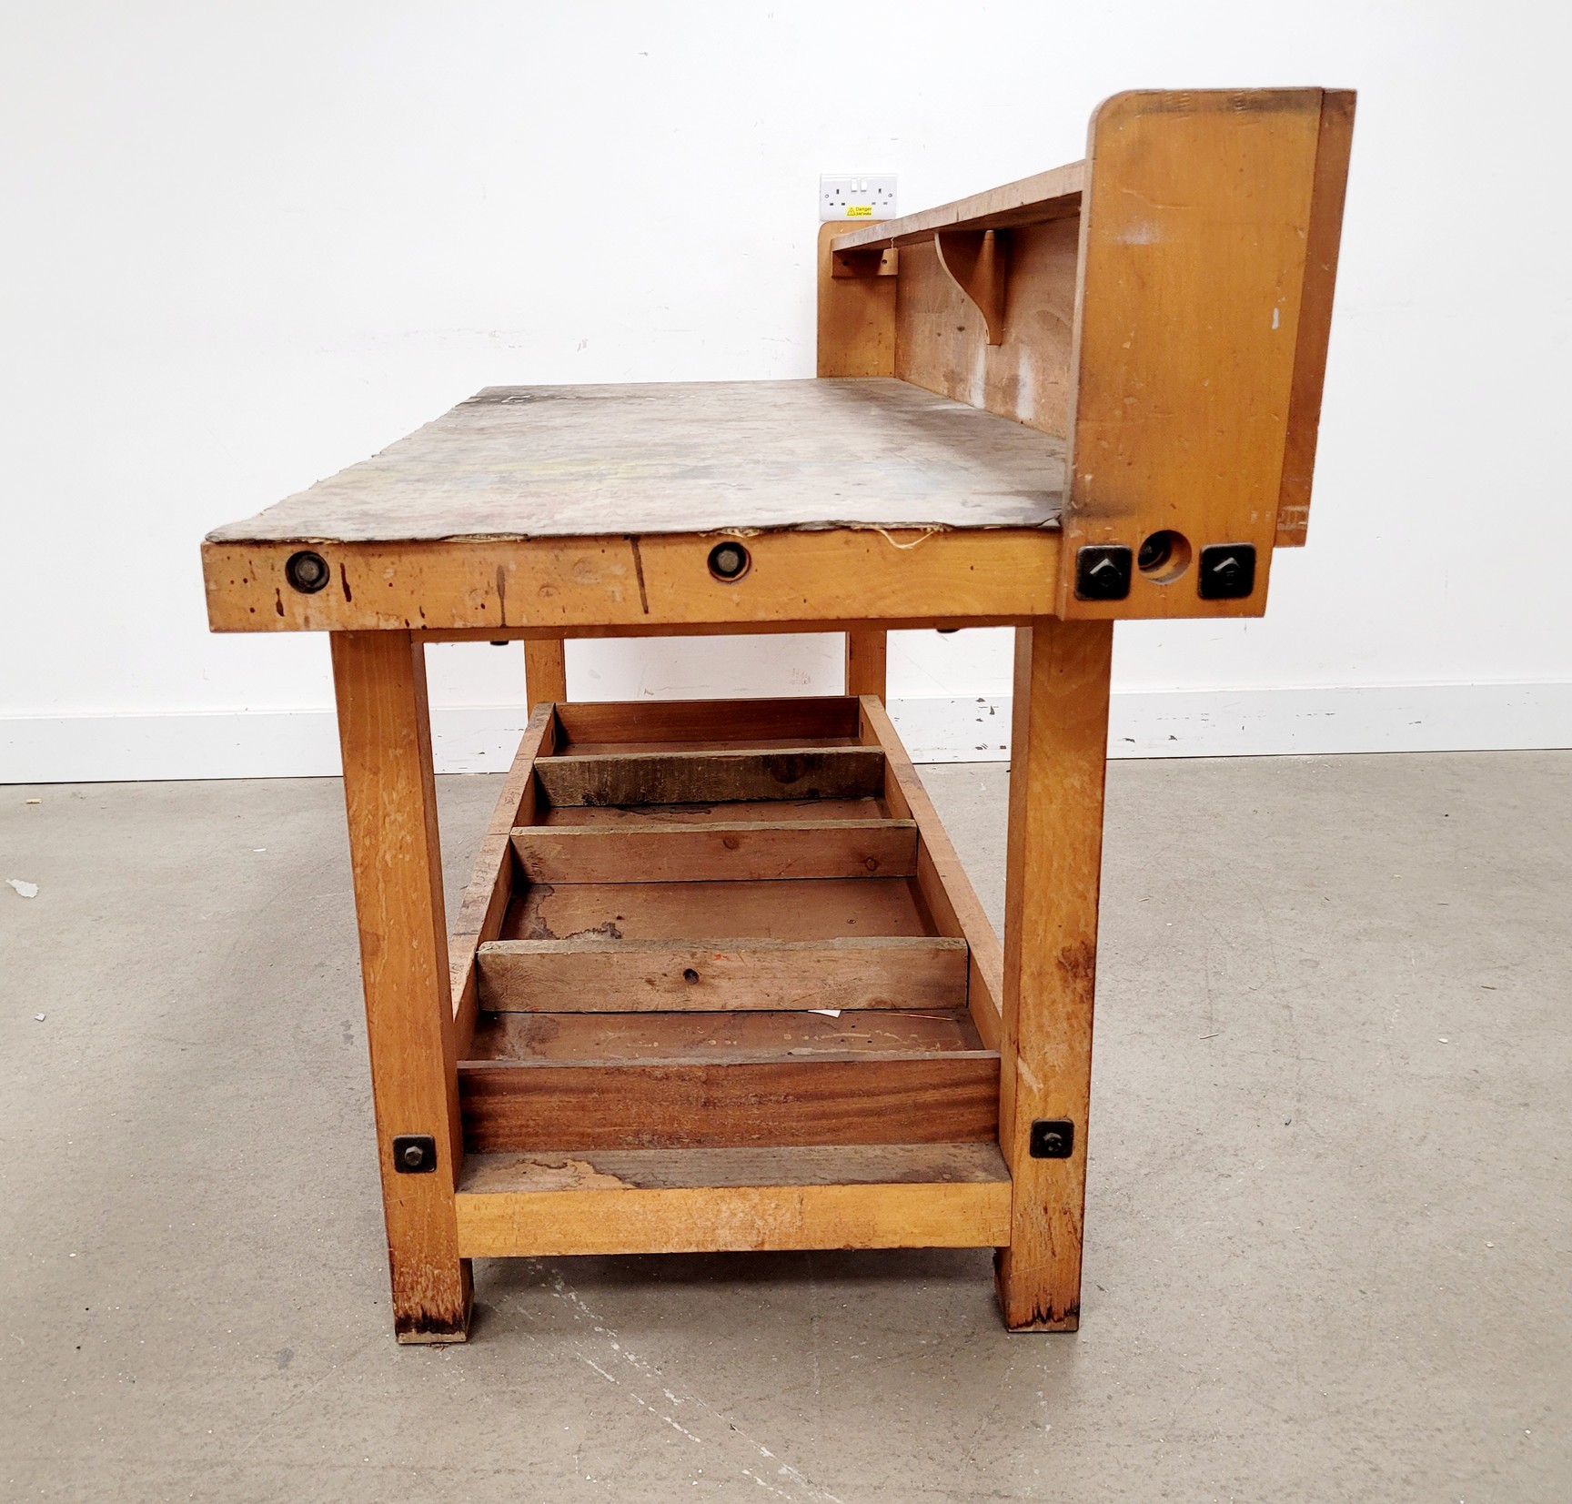
[[[1075,619],[1259,616],[1276,534],[1320,90],[1116,94],[1091,126],[1082,212],[1071,501],[1060,600]],[[1253,544],[1254,591],[1203,600],[1199,566],[1080,600],[1088,544]]]

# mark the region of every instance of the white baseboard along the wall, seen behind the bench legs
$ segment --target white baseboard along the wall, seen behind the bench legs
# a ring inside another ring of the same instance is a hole
[[[1009,756],[1009,699],[896,699],[916,762]],[[497,773],[523,731],[522,706],[439,706],[440,773]],[[1361,688],[1126,690],[1113,758],[1237,758],[1572,746],[1572,684]],[[313,778],[338,773],[332,710],[17,715],[0,718],[0,783]]]

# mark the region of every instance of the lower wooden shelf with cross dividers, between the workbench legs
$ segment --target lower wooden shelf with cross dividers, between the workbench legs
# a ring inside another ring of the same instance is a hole
[[[538,707],[451,956],[461,1256],[1009,1242],[998,941],[876,699]]]

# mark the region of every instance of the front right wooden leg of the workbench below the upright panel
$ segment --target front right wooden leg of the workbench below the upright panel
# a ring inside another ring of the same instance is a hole
[[[1014,1179],[998,1298],[1011,1331],[1080,1320],[1086,1108],[1111,622],[1016,632],[1000,1146]],[[1031,1154],[1071,1144],[1067,1157]]]

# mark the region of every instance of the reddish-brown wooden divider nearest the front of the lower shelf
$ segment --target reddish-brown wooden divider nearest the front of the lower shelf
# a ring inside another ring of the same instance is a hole
[[[465,1147],[692,1149],[997,1139],[992,1051],[679,1062],[470,1062]]]

